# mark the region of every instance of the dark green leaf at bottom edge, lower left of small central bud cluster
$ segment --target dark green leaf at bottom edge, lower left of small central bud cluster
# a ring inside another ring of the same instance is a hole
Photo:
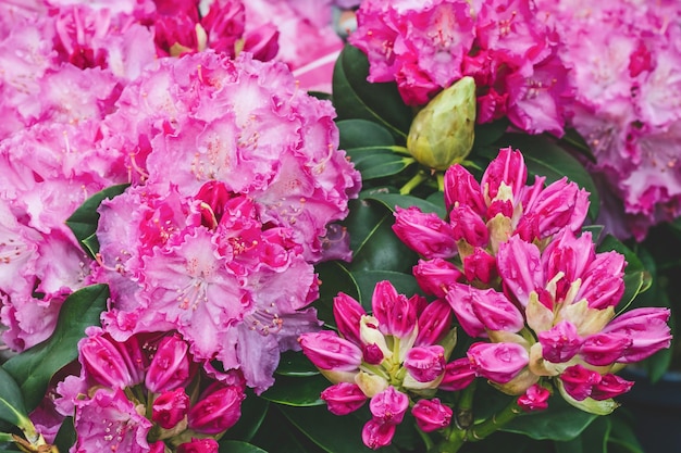
[[[362,443],[362,426],[367,420],[351,414],[336,416],[325,406],[281,407],[284,415],[315,444],[329,453],[369,453]],[[399,429],[399,428],[398,428]],[[382,453],[397,453],[393,445],[381,449]]]

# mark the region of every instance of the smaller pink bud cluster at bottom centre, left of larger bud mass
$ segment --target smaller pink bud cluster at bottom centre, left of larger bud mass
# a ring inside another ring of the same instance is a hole
[[[456,336],[445,301],[408,299],[384,280],[376,284],[371,305],[369,315],[355,299],[339,293],[333,305],[338,334],[308,332],[299,341],[333,382],[321,395],[329,411],[346,415],[370,400],[372,418],[362,440],[377,449],[392,442],[410,406],[424,431],[447,427],[451,408],[433,398],[435,392],[465,388],[474,375],[468,361],[448,362]]]

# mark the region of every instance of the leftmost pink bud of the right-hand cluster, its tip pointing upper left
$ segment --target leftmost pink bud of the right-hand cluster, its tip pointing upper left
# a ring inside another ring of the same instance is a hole
[[[407,247],[426,259],[449,259],[457,253],[451,227],[434,213],[416,206],[395,209],[393,231]]]

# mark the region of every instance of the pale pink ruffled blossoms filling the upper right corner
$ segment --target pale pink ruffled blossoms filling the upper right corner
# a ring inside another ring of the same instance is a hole
[[[572,66],[571,124],[615,206],[603,223],[641,240],[681,214],[681,10],[677,2],[537,1]],[[623,204],[623,209],[621,206]],[[618,214],[619,212],[619,214]]]

